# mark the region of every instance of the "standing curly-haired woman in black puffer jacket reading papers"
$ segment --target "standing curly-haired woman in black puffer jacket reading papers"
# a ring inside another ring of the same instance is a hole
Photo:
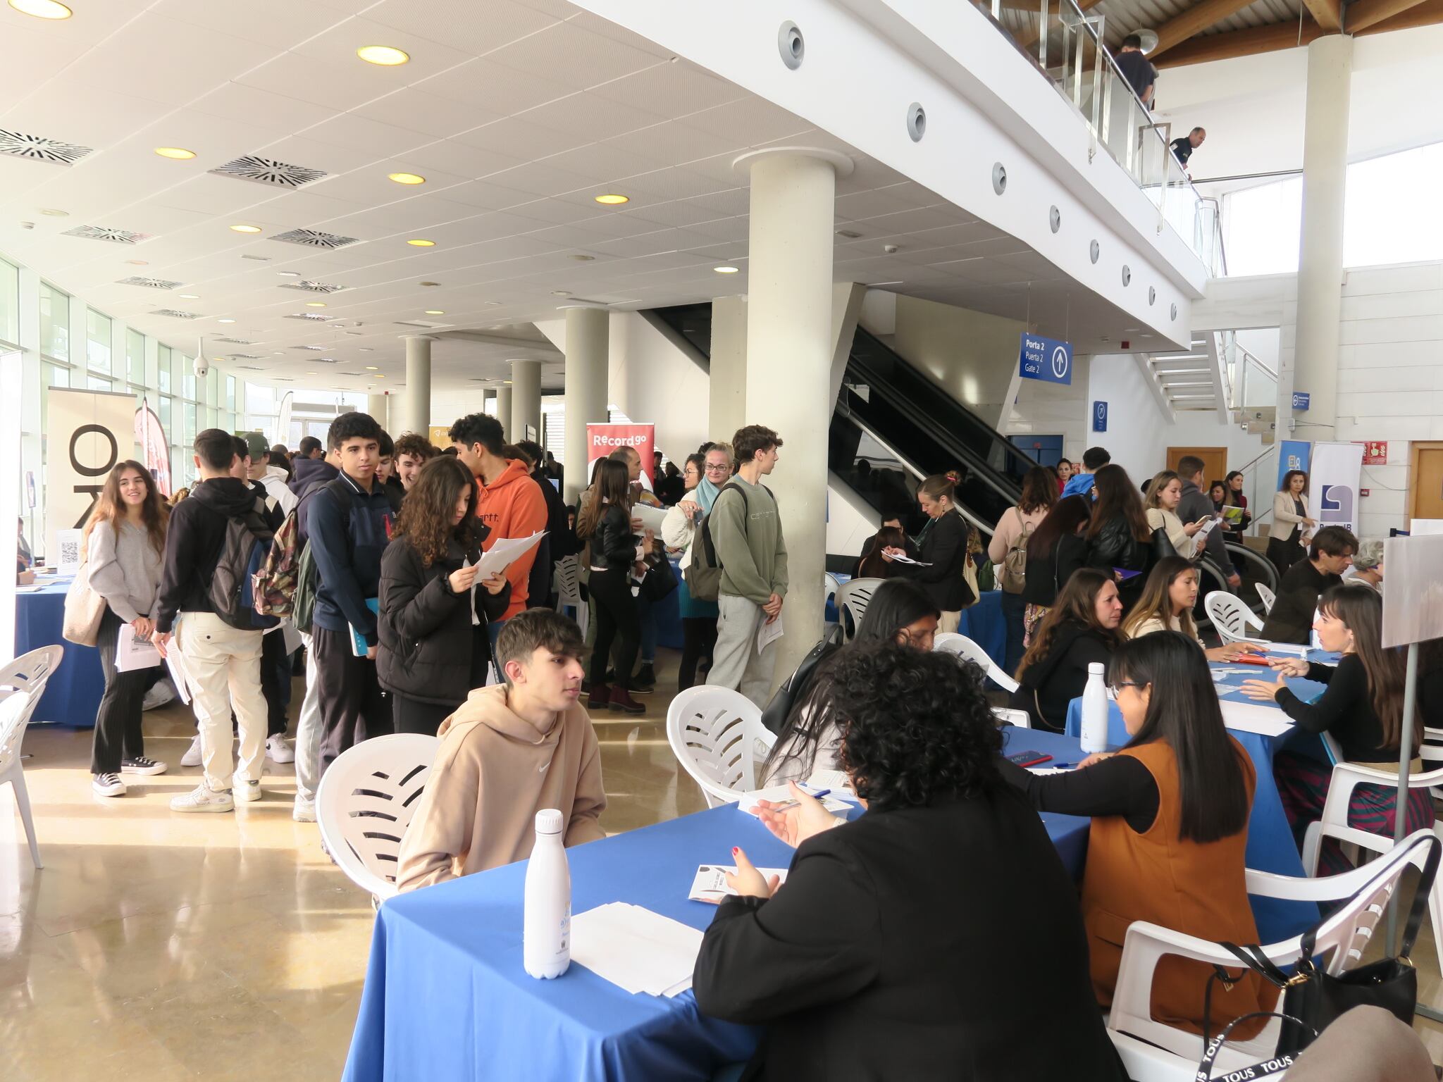
[[[486,682],[488,625],[505,613],[511,586],[501,573],[476,579],[485,529],[470,470],[446,456],[421,466],[381,555],[375,668],[397,733],[436,736]]]

